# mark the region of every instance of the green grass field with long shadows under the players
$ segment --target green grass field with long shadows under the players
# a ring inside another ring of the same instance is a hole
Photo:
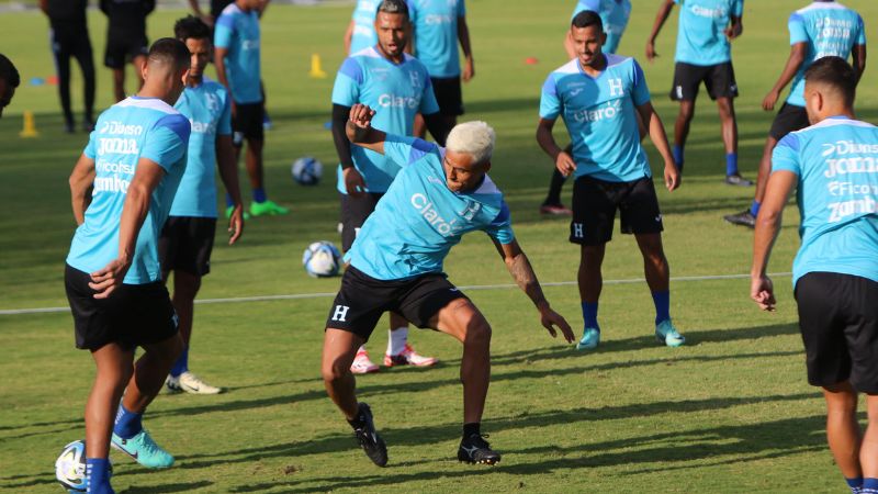
[[[533,139],[541,83],[564,61],[561,42],[572,3],[471,0],[468,5],[477,70],[464,88],[468,117],[486,120],[497,130],[492,176],[507,194],[517,236],[544,282],[573,281],[578,259],[566,242],[567,223],[537,213],[551,164]],[[621,53],[641,56],[655,3],[634,2]],[[748,177],[755,177],[772,120],[759,102],[788,53],[787,15],[802,3],[746,4],[734,61],[742,94],[741,162]],[[846,3],[860,11],[867,25],[878,19],[878,3],[871,0]],[[160,10],[151,15],[151,37],[169,34],[181,14]],[[264,80],[275,123],[267,143],[268,188],[292,214],[248,223],[238,246],[224,246],[219,238],[202,299],[337,290],[337,278],[311,279],[300,263],[308,243],[337,242],[334,183],[297,187],[289,167],[303,155],[335,162],[323,126],[333,79],[309,79],[307,71],[315,53],[327,71],[338,67],[349,15],[350,5],[277,5],[266,15]],[[95,12],[90,22],[100,64],[104,20]],[[61,273],[74,232],[67,177],[86,135],[61,132],[55,87],[29,85],[32,77],[53,74],[46,30],[37,12],[0,15],[0,52],[15,61],[24,80],[0,121],[0,310],[66,305]],[[668,131],[676,114],[666,98],[675,32],[672,20],[657,45],[663,56],[654,65],[644,63]],[[525,65],[526,57],[540,63]],[[875,74],[867,70],[858,96],[860,117],[871,121],[878,120]],[[77,109],[80,88],[74,86]],[[102,68],[98,90],[99,106],[105,108],[112,90]],[[24,110],[35,113],[38,138],[18,137]],[[658,192],[672,274],[747,273],[752,234],[724,224],[721,216],[748,204],[752,189],[721,183],[719,123],[703,94],[687,151],[682,189]],[[650,154],[655,166],[651,146]],[[792,207],[773,271],[789,270],[798,246],[796,226]],[[481,235],[454,249],[447,271],[459,285],[510,283]],[[642,277],[633,239],[617,234],[604,277]],[[644,283],[608,284],[600,312],[605,343],[593,355],[548,338],[518,290],[470,291],[494,327],[493,385],[483,425],[504,453],[494,468],[462,465],[454,458],[462,406],[460,346],[451,338],[413,335],[423,352],[441,359],[434,370],[383,370],[358,380],[390,447],[390,465],[380,470],[356,447],[319,380],[329,297],[199,305],[193,370],[228,386],[228,393],[159,396],[146,424],[178,464],[147,472],[114,456],[114,486],[128,493],[841,493],[844,483],[823,436],[822,398],[804,381],[789,278],[778,277],[776,284],[778,311],[764,314],[748,301],[746,279],[674,282],[672,314],[688,337],[688,345],[677,349],[654,344]],[[575,287],[545,292],[581,328]],[[383,351],[385,324],[372,340],[374,357]],[[67,313],[0,315],[5,353],[0,360],[0,490],[60,492],[52,465],[65,444],[85,435],[82,407],[93,378],[91,359],[72,348],[71,329]]]

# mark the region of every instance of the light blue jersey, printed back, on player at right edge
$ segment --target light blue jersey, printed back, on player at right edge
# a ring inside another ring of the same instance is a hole
[[[793,285],[814,271],[878,281],[878,128],[842,116],[790,133],[772,156],[779,170],[799,177]]]

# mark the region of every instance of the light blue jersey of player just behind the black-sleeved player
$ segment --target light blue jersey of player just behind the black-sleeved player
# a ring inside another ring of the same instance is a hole
[[[458,19],[466,15],[463,0],[409,0],[415,26],[415,55],[430,77],[460,76]]]

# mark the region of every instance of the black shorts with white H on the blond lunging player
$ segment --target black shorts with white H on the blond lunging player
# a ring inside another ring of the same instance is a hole
[[[348,266],[326,327],[353,333],[368,341],[385,312],[393,311],[417,327],[426,328],[442,307],[465,297],[443,273],[385,281]]]

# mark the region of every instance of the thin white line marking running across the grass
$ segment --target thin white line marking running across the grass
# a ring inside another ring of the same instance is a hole
[[[768,274],[774,278],[792,276],[791,272],[774,272]],[[713,281],[713,280],[741,280],[750,278],[750,274],[711,274],[703,277],[672,277],[671,281]],[[643,283],[643,278],[630,278],[624,280],[604,280],[604,284],[628,284]],[[551,281],[540,283],[543,287],[575,287],[575,281]],[[458,287],[461,290],[504,290],[518,288],[514,283],[503,284],[471,284],[469,287]],[[236,296],[233,299],[202,299],[196,300],[196,304],[233,304],[241,302],[271,302],[275,300],[301,300],[301,299],[329,299],[336,296],[336,292],[323,293],[295,293],[290,295],[260,295],[260,296]],[[7,308],[0,310],[0,315],[23,315],[23,314],[52,314],[59,312],[70,312],[70,307],[36,307],[36,308]]]

